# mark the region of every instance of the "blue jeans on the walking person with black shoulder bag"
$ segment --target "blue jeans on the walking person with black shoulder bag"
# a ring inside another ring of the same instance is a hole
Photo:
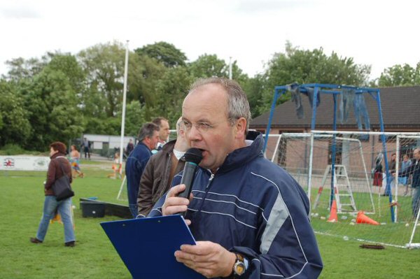
[[[71,198],[57,201],[55,196],[45,196],[43,215],[41,222],[39,222],[38,232],[36,238],[43,241],[45,234],[47,234],[50,220],[55,215],[55,210],[58,209],[64,224],[64,242],[76,241],[73,231],[73,220],[71,217]]]

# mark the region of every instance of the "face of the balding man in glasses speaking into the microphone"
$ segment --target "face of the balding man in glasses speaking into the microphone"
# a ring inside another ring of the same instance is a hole
[[[235,129],[228,120],[228,96],[220,85],[198,87],[186,96],[182,106],[186,138],[192,148],[203,150],[200,163],[216,171],[226,155],[235,150]]]

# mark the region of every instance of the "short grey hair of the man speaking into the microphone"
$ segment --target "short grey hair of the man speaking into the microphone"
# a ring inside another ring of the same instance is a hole
[[[197,89],[198,87],[209,84],[221,85],[221,87],[223,87],[223,89],[228,93],[228,119],[233,125],[237,119],[244,117],[246,120],[245,134],[247,134],[249,122],[251,120],[251,110],[249,108],[246,94],[244,90],[242,90],[239,83],[228,78],[199,78],[195,81],[195,83],[193,83],[193,85],[191,85],[190,91],[188,93],[193,92],[193,90]]]

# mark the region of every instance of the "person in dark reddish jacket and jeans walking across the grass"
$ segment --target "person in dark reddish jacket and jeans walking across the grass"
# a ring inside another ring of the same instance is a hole
[[[64,143],[56,141],[50,144],[51,161],[48,166],[47,180],[44,183],[45,201],[43,215],[41,222],[39,223],[36,237],[31,237],[29,239],[31,243],[43,243],[50,220],[55,216],[55,213],[58,210],[64,224],[64,245],[68,247],[73,247],[75,245],[76,238],[73,230],[71,198],[57,201],[54,192],[52,191],[52,185],[55,183],[55,180],[64,175],[69,177],[70,183],[72,182],[71,166],[65,155],[66,145]]]

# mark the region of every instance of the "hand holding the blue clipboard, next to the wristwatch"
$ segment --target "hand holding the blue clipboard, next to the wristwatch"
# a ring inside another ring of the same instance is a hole
[[[228,277],[232,273],[236,256],[211,241],[197,241],[197,245],[181,245],[175,252],[176,261],[207,278]]]

